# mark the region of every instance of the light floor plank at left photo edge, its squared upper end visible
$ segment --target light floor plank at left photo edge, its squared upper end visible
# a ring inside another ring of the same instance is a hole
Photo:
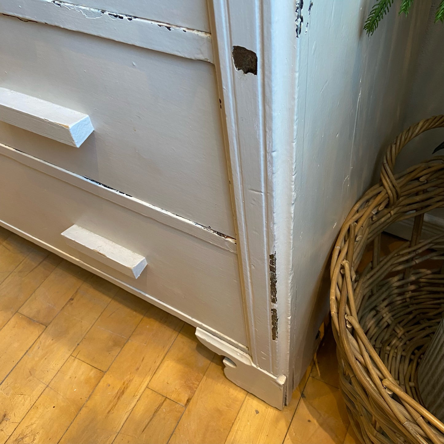
[[[44,329],[44,325],[16,313],[0,330],[0,382],[20,361]]]

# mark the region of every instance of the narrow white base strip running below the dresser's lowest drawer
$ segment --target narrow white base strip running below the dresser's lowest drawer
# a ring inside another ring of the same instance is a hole
[[[245,354],[248,353],[248,349],[245,345],[239,344],[237,341],[234,341],[233,339],[225,336],[222,333],[219,333],[218,331],[208,327],[208,325],[202,324],[202,322],[194,319],[193,317],[188,316],[185,313],[182,313],[178,309],[175,309],[174,307],[171,307],[170,305],[166,304],[165,302],[160,301],[159,299],[156,299],[155,297],[150,296],[147,293],[144,293],[143,291],[140,291],[139,289],[128,285],[127,283],[120,281],[119,279],[116,279],[115,277],[104,273],[103,271],[87,264],[86,262],[81,261],[78,258],[75,258],[74,256],[71,256],[71,254],[68,254],[64,252],[63,250],[59,250],[55,246],[52,246],[51,244],[48,244],[47,242],[42,241],[39,238],[36,238],[32,236],[31,234],[26,233],[23,230],[20,230],[19,228],[16,228],[13,225],[8,224],[7,222],[4,222],[0,219],[0,226],[3,228],[6,228],[6,230],[12,231],[13,233],[17,234],[18,236],[21,236],[22,238],[27,239],[30,242],[35,243],[38,246],[41,246],[45,250],[51,251],[54,254],[57,254],[57,256],[60,256],[63,259],[66,259],[69,262],[72,262],[73,264],[84,268],[85,270],[91,271],[91,273],[96,274],[100,277],[103,277],[103,279],[106,279],[107,281],[112,282],[113,284],[119,286],[120,288],[123,288],[124,290],[127,290],[127,292],[134,294],[135,296],[138,296],[145,301],[149,302],[150,304],[155,305],[156,307],[159,307],[160,309],[166,311],[167,313],[172,314],[173,316],[178,317],[179,319],[182,319],[182,321],[186,322],[187,324],[193,325],[194,327],[197,327],[201,331],[210,332],[211,336],[217,338],[219,341],[226,343],[227,345],[230,345],[233,349],[238,349],[240,353]]]

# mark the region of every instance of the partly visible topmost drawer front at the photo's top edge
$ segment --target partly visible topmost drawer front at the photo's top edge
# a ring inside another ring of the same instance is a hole
[[[78,0],[80,4],[127,16],[210,32],[206,0]]]

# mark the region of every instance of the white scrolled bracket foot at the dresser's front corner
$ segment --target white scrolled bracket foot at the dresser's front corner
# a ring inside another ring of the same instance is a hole
[[[249,354],[199,327],[196,328],[196,337],[214,353],[225,356],[224,373],[230,381],[273,407],[284,407],[287,385],[284,375],[276,377],[262,370],[253,364]]]

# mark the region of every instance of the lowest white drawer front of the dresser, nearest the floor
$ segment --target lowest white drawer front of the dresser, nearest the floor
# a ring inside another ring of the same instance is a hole
[[[61,169],[53,172],[51,169],[56,168],[45,163],[49,173],[46,174],[29,166],[43,164],[41,161],[4,146],[1,150],[10,151],[8,155],[0,154],[3,226],[36,238],[56,252],[69,254],[123,286],[130,285],[147,300],[161,301],[173,312],[196,320],[197,325],[206,325],[240,344],[247,343],[234,249],[213,245],[130,210],[126,207],[131,206],[130,202],[125,202],[130,198],[124,195],[117,196],[123,202],[119,205],[109,200],[109,194],[114,193],[111,190]],[[87,182],[91,192],[69,183],[73,179]],[[161,210],[159,216],[164,216]],[[88,251],[81,252],[73,242],[67,242],[73,238],[72,230],[68,230],[72,226],[82,227],[145,258],[147,265],[143,263],[134,273],[138,275],[143,269],[137,278],[109,261],[105,265],[103,260],[92,258]],[[209,234],[203,228],[200,230]]]

